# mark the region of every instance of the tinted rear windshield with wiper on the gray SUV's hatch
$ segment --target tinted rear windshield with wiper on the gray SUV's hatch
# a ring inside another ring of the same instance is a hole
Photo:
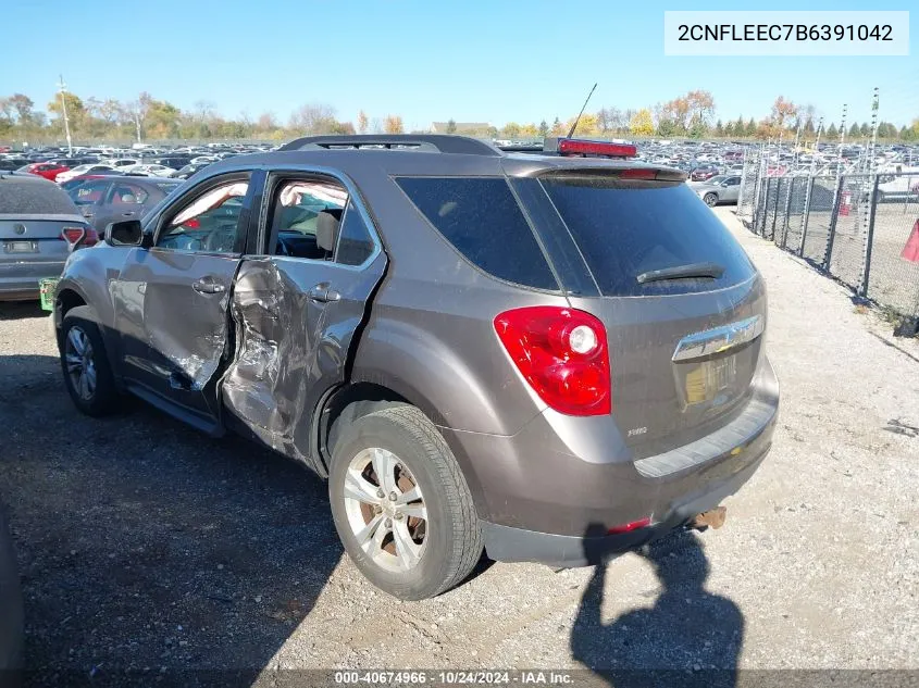
[[[605,296],[709,291],[754,274],[740,243],[685,184],[587,175],[542,182]],[[724,272],[638,284],[643,273],[693,263]]]

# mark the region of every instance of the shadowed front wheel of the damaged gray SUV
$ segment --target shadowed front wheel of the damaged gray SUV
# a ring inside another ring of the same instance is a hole
[[[91,313],[88,305],[79,305],[64,316],[61,324],[61,371],[64,386],[76,408],[86,415],[103,416],[115,412],[119,391],[109,367],[102,334],[90,320]]]

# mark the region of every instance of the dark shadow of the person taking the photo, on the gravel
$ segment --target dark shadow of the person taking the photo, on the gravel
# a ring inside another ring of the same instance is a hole
[[[705,589],[709,563],[699,538],[676,533],[637,554],[661,584],[654,605],[604,624],[610,565],[598,564],[572,628],[573,658],[617,688],[735,686],[744,617],[733,601]]]

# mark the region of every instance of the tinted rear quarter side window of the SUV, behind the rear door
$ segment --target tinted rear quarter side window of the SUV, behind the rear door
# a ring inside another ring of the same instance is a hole
[[[469,261],[500,279],[558,289],[533,230],[498,177],[399,177],[427,221]]]

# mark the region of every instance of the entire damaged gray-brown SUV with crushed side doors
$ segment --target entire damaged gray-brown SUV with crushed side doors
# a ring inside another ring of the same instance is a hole
[[[210,165],[70,258],[66,388],[307,464],[403,599],[483,549],[576,566],[720,525],[777,418],[766,289],[685,174],[634,152],[312,137]]]

